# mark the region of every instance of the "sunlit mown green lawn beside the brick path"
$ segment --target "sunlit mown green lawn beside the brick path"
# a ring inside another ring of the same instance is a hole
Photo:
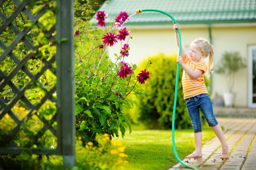
[[[172,149],[171,130],[147,130],[142,126],[132,126],[133,132],[120,139],[127,147],[128,164],[125,170],[167,170],[178,161]],[[215,137],[213,130],[203,127],[203,140],[206,143]],[[192,129],[175,130],[175,145],[180,159],[194,151],[194,133]]]

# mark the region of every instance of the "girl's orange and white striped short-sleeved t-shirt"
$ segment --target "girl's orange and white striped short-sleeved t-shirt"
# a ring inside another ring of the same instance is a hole
[[[207,64],[203,60],[200,60],[197,63],[193,63],[190,60],[190,58],[187,56],[187,54],[185,55],[183,61],[191,70],[199,69],[203,71],[203,74],[201,76],[199,76],[196,79],[192,79],[191,77],[189,77],[186,71],[183,70],[182,88],[183,88],[184,99],[186,100],[189,97],[193,97],[198,94],[203,94],[203,93],[208,94],[207,87],[205,86],[205,83],[204,83],[204,75],[205,75],[205,72],[207,71]]]

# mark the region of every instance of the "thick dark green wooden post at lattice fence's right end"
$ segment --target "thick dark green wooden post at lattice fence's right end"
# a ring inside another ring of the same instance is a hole
[[[74,1],[57,0],[57,137],[63,165],[75,166]]]

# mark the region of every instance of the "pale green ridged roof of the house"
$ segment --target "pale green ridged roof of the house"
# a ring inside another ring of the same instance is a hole
[[[99,10],[108,14],[107,21],[121,11],[128,15],[137,9],[158,9],[169,13],[178,23],[240,23],[256,22],[256,0],[108,0]],[[169,24],[167,15],[145,11],[132,16],[130,25]]]

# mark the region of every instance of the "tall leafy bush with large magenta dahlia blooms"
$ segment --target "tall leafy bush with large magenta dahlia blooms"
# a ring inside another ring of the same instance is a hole
[[[96,133],[119,136],[120,130],[124,137],[128,127],[131,133],[130,122],[122,109],[137,104],[129,94],[144,96],[144,90],[137,87],[137,82],[144,84],[149,78],[146,68],[136,76],[137,66],[125,62],[130,50],[130,32],[122,28],[129,19],[127,12],[120,12],[110,28],[105,22],[107,17],[105,11],[97,12],[99,28],[75,19],[76,130],[84,144],[96,142]],[[106,51],[118,41],[121,42],[120,53],[114,54],[113,62]]]

